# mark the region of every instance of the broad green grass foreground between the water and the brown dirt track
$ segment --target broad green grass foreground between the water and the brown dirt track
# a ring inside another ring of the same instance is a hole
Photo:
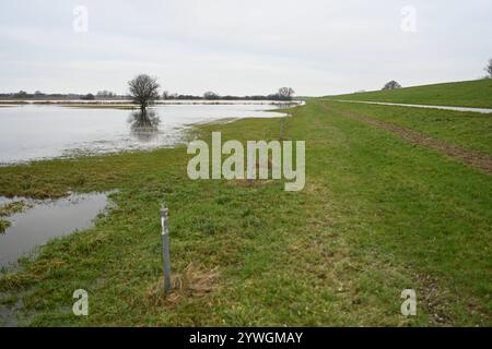
[[[378,115],[373,107],[356,112]],[[306,141],[300,193],[279,181],[190,181],[185,147],[0,168],[3,195],[119,190],[93,229],[5,273],[0,302],[22,300],[21,324],[32,326],[492,325],[491,177],[349,119],[349,108],[312,99],[286,120],[284,137]],[[281,122],[200,125],[195,136],[278,140]],[[487,137],[457,143],[490,152]],[[186,280],[169,299],[155,292],[163,200],[172,268]],[[79,288],[86,317],[71,314]],[[409,288],[418,316],[405,318]]]

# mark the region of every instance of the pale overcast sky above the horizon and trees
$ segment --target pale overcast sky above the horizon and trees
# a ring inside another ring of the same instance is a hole
[[[126,93],[138,73],[200,95],[473,80],[491,38],[491,0],[3,0],[0,92]]]

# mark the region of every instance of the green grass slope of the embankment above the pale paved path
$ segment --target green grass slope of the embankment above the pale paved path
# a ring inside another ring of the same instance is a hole
[[[492,79],[329,96],[330,99],[492,108]]]

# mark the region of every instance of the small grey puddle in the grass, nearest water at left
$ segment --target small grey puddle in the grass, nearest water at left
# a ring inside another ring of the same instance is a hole
[[[71,194],[49,201],[0,196],[0,206],[16,201],[27,204],[24,212],[2,217],[11,226],[0,234],[0,268],[52,238],[92,227],[94,218],[108,205],[108,195]]]

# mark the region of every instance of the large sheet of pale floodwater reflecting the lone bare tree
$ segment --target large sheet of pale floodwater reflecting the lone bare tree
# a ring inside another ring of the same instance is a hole
[[[273,104],[157,105],[140,128],[134,110],[57,105],[0,106],[0,165],[172,146],[192,123],[284,116]]]

